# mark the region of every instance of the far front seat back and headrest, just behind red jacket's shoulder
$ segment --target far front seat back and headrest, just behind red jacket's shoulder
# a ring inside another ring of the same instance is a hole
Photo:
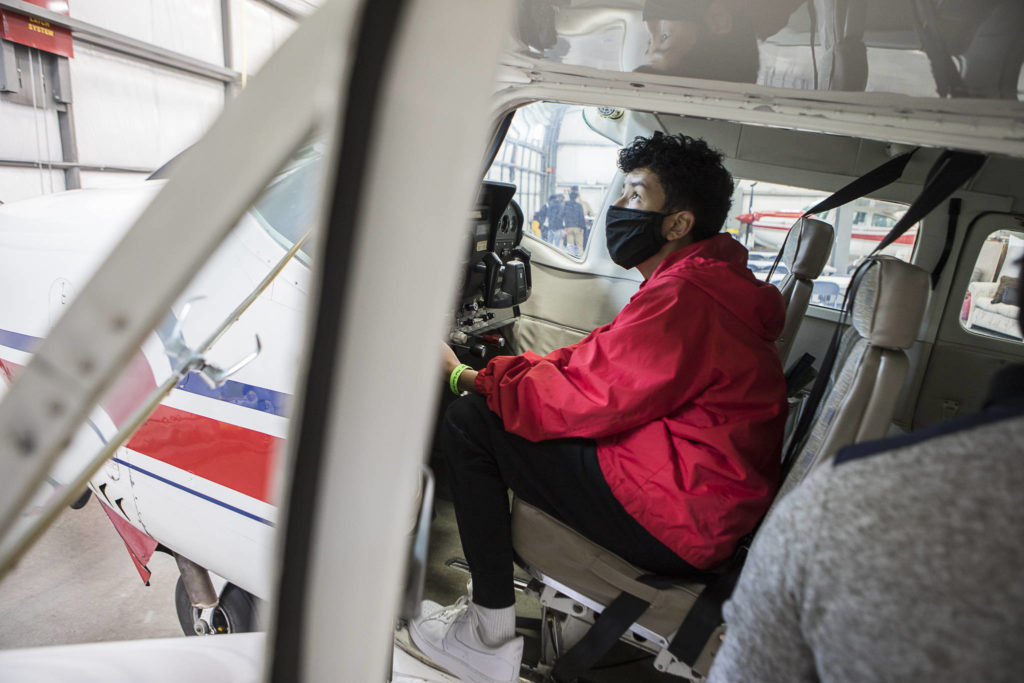
[[[782,263],[790,272],[778,284],[778,291],[785,300],[785,327],[775,341],[782,367],[786,367],[793,340],[811,301],[814,280],[821,274],[831,254],[836,231],[828,223],[817,218],[801,218],[790,230],[790,238],[782,251]]]

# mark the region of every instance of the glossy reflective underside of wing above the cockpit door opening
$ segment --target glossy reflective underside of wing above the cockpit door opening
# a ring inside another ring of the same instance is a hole
[[[549,61],[797,90],[1020,99],[1024,3],[520,0]]]

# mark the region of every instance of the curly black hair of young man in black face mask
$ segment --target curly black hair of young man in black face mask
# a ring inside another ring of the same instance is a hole
[[[722,165],[722,155],[701,139],[689,135],[636,137],[618,152],[624,173],[649,169],[665,190],[663,213],[693,213],[693,240],[706,240],[722,229],[732,206],[732,175]]]

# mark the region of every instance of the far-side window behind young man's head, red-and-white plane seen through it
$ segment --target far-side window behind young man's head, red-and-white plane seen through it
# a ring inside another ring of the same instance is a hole
[[[725,227],[750,250],[748,265],[756,276],[768,276],[794,222],[827,196],[828,193],[817,189],[736,178],[732,213]],[[850,278],[861,259],[878,246],[905,211],[903,204],[859,199],[818,215],[836,228],[836,244],[824,271],[814,282],[811,303],[840,308]],[[918,226],[913,225],[882,253],[909,261],[916,237]],[[780,263],[772,282],[780,282],[787,272],[785,265]]]

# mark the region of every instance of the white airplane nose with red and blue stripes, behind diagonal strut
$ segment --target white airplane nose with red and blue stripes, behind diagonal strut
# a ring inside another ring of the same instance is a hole
[[[8,380],[163,184],[73,190],[0,207],[0,286],[7,293],[0,298],[0,370]],[[257,217],[246,214],[174,306],[180,311],[181,303],[202,297],[182,321],[189,346],[205,339],[286,252]],[[253,350],[258,333],[263,350],[257,359],[216,388],[189,373],[90,480],[115,526],[143,555],[143,578],[146,552],[159,542],[256,596],[267,595],[276,454],[288,429],[308,279],[308,266],[291,259],[207,354],[229,366]],[[175,359],[164,339],[176,317],[169,311],[126,365],[38,500],[63,483],[62,471],[113,439],[170,376]]]

